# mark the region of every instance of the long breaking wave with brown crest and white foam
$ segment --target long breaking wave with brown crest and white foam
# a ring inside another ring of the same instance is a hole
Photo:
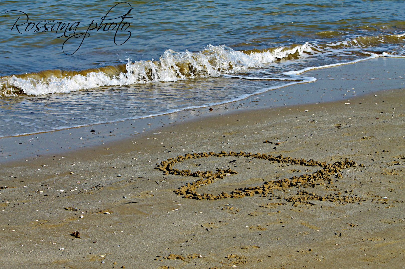
[[[235,74],[280,59],[291,60],[310,55],[339,56],[347,53],[378,54],[401,57],[402,51],[386,52],[380,45],[401,44],[405,34],[356,36],[343,41],[292,44],[290,46],[235,51],[225,45],[208,45],[199,52],[166,50],[158,60],[128,60],[126,64],[103,66],[82,71],[45,70],[42,72],[3,76],[0,78],[0,96],[46,95],[69,93],[97,87],[124,86],[139,83],[170,82],[190,78],[228,77],[250,80],[296,80],[296,77],[265,78]],[[356,57],[361,57],[356,55]],[[328,66],[328,65],[326,65]],[[312,68],[312,67],[309,67]],[[291,76],[295,71],[283,73]],[[298,78],[300,80],[301,78]]]

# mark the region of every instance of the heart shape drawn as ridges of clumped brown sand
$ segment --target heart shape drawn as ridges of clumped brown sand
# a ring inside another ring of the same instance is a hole
[[[218,169],[217,172],[202,172],[202,171],[195,171],[190,172],[190,170],[185,169],[180,171],[179,169],[173,168],[173,165],[178,162],[182,162],[187,159],[196,159],[196,158],[207,158],[207,157],[251,157],[253,159],[265,159],[266,161],[270,161],[270,163],[289,163],[294,165],[306,165],[306,166],[313,166],[313,167],[322,167],[318,171],[312,174],[303,174],[301,176],[293,176],[292,178],[284,178],[274,181],[266,181],[261,186],[254,186],[254,187],[245,187],[243,189],[237,189],[232,191],[231,193],[222,192],[218,195],[213,195],[209,193],[199,194],[197,193],[196,189],[199,186],[205,186],[214,182],[217,179],[224,178],[224,176],[230,176],[233,174],[237,174],[237,172],[227,169],[222,170]],[[332,184],[330,176],[333,174],[337,174],[337,178],[342,178],[340,174],[342,169],[346,169],[348,167],[355,167],[358,166],[355,161],[337,161],[335,163],[326,162],[319,162],[314,161],[312,159],[306,161],[302,158],[292,158],[292,157],[283,157],[283,155],[279,155],[278,157],[274,157],[272,155],[266,154],[252,154],[252,153],[234,153],[230,151],[226,153],[224,151],[220,153],[194,153],[194,154],[186,154],[184,156],[180,155],[178,157],[169,158],[166,161],[161,161],[157,164],[156,169],[163,172],[165,175],[172,174],[172,175],[179,175],[179,176],[193,176],[198,177],[199,179],[192,182],[191,184],[188,183],[187,185],[181,186],[179,189],[175,190],[174,192],[177,195],[183,195],[183,198],[191,198],[191,199],[207,199],[207,200],[215,200],[215,199],[222,199],[222,198],[241,198],[245,196],[254,196],[254,194],[259,194],[260,196],[266,197],[269,192],[273,189],[281,189],[281,188],[292,188],[292,187],[307,187],[307,186],[314,186],[315,184],[319,184],[320,182],[325,182],[328,184]],[[363,166],[360,164],[360,166]],[[324,185],[322,183],[322,185]],[[307,199],[315,199],[315,200],[328,200],[328,201],[343,201],[343,202],[354,202],[354,201],[365,201],[362,197],[353,197],[353,196],[345,196],[341,193],[336,194],[329,194],[326,196],[317,195],[315,193],[309,193],[305,190],[297,191],[297,195],[293,197],[289,197],[286,201],[290,202],[305,202]],[[309,203],[309,202],[307,202]]]

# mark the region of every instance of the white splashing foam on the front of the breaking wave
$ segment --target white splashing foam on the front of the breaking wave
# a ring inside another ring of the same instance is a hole
[[[89,72],[85,76],[81,74],[67,77],[50,76],[40,80],[37,76],[3,77],[0,81],[0,90],[3,95],[13,95],[20,90],[28,95],[44,95],[103,86],[168,82],[196,77],[218,77],[223,74],[255,68],[260,64],[270,63],[292,54],[301,55],[304,52],[312,52],[308,42],[291,48],[280,47],[254,53],[234,51],[225,45],[209,45],[197,53],[190,51],[178,53],[168,49],[158,61],[153,61],[153,59],[134,63],[128,61],[125,74],[110,76],[104,72]]]

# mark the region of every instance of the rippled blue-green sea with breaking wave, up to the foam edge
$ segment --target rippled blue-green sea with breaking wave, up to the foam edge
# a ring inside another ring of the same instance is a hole
[[[107,18],[133,8],[116,38],[128,41],[92,30],[73,55],[84,35],[62,51],[66,37],[27,27],[80,21],[79,34],[117,3],[0,3],[14,10],[0,16],[0,136],[229,102],[313,80],[292,72],[303,68],[405,55],[403,1],[126,1]]]

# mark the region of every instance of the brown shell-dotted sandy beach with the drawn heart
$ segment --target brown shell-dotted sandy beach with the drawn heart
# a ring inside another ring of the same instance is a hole
[[[375,95],[6,163],[1,267],[402,268],[405,90]]]

